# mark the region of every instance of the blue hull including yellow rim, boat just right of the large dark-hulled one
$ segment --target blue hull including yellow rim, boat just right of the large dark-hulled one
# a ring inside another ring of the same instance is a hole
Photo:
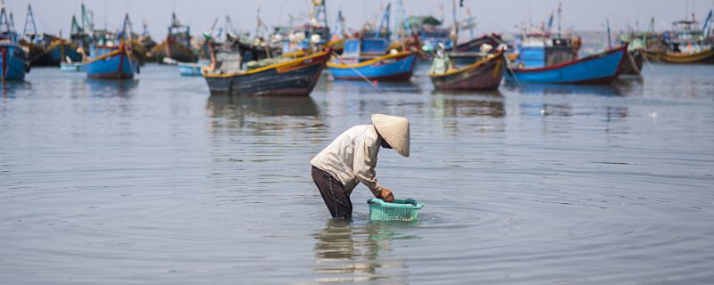
[[[384,56],[369,64],[339,64],[328,62],[332,77],[338,80],[408,81],[414,74],[415,53]]]

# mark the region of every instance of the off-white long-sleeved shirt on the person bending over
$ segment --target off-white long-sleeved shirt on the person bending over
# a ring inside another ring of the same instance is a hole
[[[358,183],[363,183],[378,196],[382,186],[377,182],[374,167],[381,140],[374,126],[353,126],[337,136],[310,163],[339,180],[348,195]]]

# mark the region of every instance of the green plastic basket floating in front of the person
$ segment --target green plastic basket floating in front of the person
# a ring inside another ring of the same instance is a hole
[[[387,203],[382,199],[372,198],[369,204],[369,219],[372,221],[414,221],[419,216],[419,204],[415,199],[394,199]]]

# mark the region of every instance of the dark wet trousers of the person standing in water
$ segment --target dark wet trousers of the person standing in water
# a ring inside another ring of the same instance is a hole
[[[322,199],[329,213],[335,218],[349,218],[352,216],[352,201],[345,193],[345,187],[327,171],[312,167],[312,181],[318,186]]]

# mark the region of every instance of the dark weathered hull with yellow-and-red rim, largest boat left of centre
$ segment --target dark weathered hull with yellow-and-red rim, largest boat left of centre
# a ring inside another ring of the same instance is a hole
[[[202,69],[202,74],[211,94],[308,96],[328,59],[326,52],[245,73],[220,75]]]

